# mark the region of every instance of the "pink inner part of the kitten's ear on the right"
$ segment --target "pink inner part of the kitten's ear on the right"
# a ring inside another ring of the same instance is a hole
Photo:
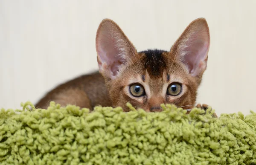
[[[207,29],[194,33],[185,41],[183,49],[183,63],[189,68],[189,72],[196,76],[206,69],[207,55],[209,50],[209,35]]]

